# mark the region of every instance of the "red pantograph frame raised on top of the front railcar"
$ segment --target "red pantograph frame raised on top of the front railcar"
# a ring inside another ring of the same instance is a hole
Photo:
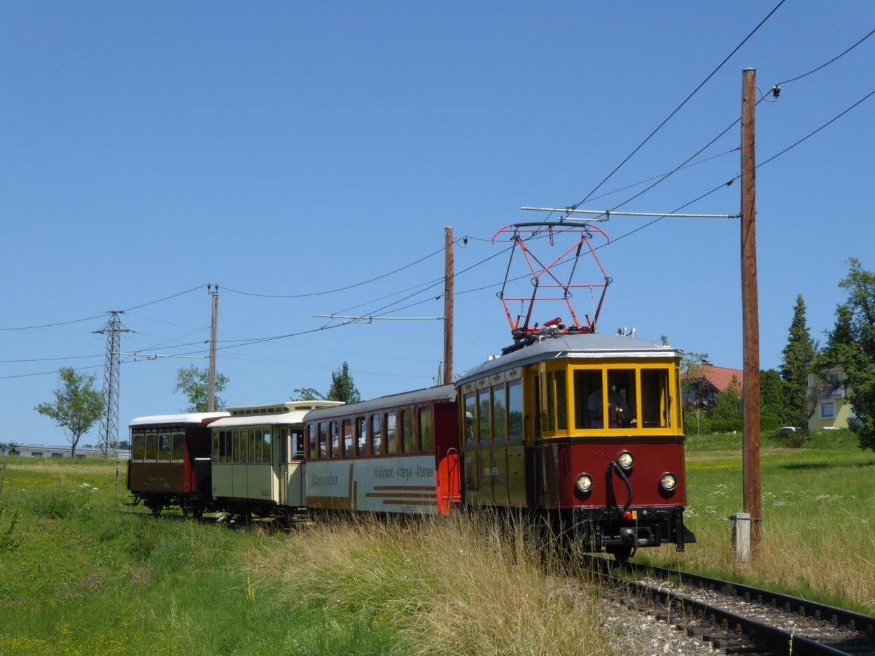
[[[602,263],[598,260],[598,255],[596,255],[595,248],[592,248],[592,235],[600,234],[605,238],[606,243],[611,243],[611,238],[606,234],[604,230],[599,227],[592,226],[591,224],[574,224],[570,225],[567,222],[563,221],[545,221],[545,222],[537,222],[537,223],[512,223],[508,226],[500,228],[498,232],[493,234],[493,244],[498,240],[501,234],[510,234],[510,241],[513,242],[513,248],[510,251],[510,257],[507,261],[507,271],[505,271],[504,275],[504,283],[501,285],[501,291],[498,293],[498,297],[501,301],[501,304],[504,306],[504,312],[507,315],[507,323],[510,324],[511,334],[514,335],[514,338],[524,338],[528,335],[538,335],[542,333],[542,327],[539,325],[530,326],[529,322],[532,318],[532,311],[535,308],[535,303],[537,302],[556,302],[556,301],[564,301],[564,303],[568,307],[568,311],[570,312],[571,319],[574,325],[563,325],[562,328],[559,328],[559,325],[562,325],[561,318],[553,318],[545,321],[543,326],[549,328],[552,332],[556,334],[567,334],[570,332],[595,332],[596,324],[598,323],[598,315],[601,312],[602,304],[605,301],[605,294],[607,291],[608,285],[611,283],[611,278],[605,273],[605,268],[602,266]],[[523,234],[528,234],[528,237],[523,238]],[[544,264],[540,259],[532,252],[531,248],[526,246],[526,241],[531,241],[537,235],[543,235],[549,237],[549,244],[553,246],[555,243],[555,238],[558,235],[563,234],[577,234],[579,235],[576,241],[569,247],[566,248],[561,255],[556,257],[549,264]],[[574,273],[577,270],[577,261],[580,259],[581,252],[584,251],[584,247],[587,248],[590,255],[592,255],[592,259],[595,260],[598,265],[598,269],[601,271],[602,276],[605,279],[604,283],[572,283],[571,281],[574,278]],[[505,296],[505,290],[507,288],[507,276],[510,273],[511,264],[514,261],[514,254],[516,249],[519,248],[522,253],[523,258],[528,265],[528,269],[532,274],[532,295],[530,297],[507,297]],[[568,282],[563,283],[556,277],[556,274],[553,273],[551,269],[554,269],[557,264],[563,262],[565,257],[574,252],[574,263],[571,266],[571,272],[568,276]],[[535,266],[536,263],[536,266]],[[541,283],[541,278],[543,276],[549,276],[549,279],[552,279],[553,283]],[[562,290],[562,295],[557,297],[538,297],[538,290],[546,289],[546,290]],[[574,306],[571,304],[571,292],[570,290],[577,289],[586,289],[586,290],[601,290],[601,295],[598,298],[598,305],[596,306],[595,311],[593,312],[592,318],[588,314],[584,314],[584,324],[580,323],[580,320],[577,318],[577,312],[574,311]],[[521,301],[523,303],[528,302],[528,311],[526,311],[525,321],[521,324],[522,315],[518,315],[514,320],[514,316],[510,311],[510,307],[508,306],[508,302]]]

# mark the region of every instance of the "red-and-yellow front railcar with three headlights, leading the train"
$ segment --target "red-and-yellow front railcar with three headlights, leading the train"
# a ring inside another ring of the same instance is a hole
[[[680,352],[627,335],[529,338],[458,381],[465,504],[529,509],[591,551],[695,536]]]

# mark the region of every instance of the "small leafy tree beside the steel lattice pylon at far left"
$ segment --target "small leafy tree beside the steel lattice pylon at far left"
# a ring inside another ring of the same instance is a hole
[[[65,431],[70,443],[70,457],[76,455],[76,445],[103,415],[103,397],[95,390],[95,375],[76,373],[70,367],[59,370],[61,387],[54,390],[54,401],[39,403],[40,415],[51,417]]]

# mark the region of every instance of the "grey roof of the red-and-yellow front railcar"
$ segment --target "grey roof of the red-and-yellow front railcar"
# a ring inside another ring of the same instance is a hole
[[[499,355],[474,366],[456,382],[461,385],[507,367],[530,365],[557,358],[676,358],[681,351],[650,339],[598,332],[544,337],[534,344]]]

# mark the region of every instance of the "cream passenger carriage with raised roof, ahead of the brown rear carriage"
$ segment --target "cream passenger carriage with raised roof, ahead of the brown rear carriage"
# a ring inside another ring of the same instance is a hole
[[[276,506],[306,506],[304,415],[339,401],[288,401],[229,408],[210,424],[213,498],[230,512],[272,514]]]

